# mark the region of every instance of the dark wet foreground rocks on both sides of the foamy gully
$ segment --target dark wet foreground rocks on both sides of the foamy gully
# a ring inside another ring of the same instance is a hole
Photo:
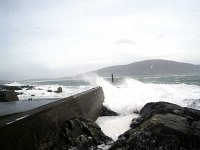
[[[102,116],[117,115],[103,108]],[[104,112],[105,111],[105,112]],[[89,120],[73,118],[41,149],[197,150],[200,149],[200,111],[167,102],[147,103],[130,129],[113,141]],[[100,145],[109,145],[103,148]]]

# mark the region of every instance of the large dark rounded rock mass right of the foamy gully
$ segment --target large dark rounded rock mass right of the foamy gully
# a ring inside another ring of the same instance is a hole
[[[200,111],[166,102],[148,103],[110,150],[200,149]]]

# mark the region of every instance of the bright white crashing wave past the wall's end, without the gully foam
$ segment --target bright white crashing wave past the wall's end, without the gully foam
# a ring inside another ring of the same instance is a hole
[[[97,76],[95,82],[94,79],[88,81],[93,86],[102,86],[104,105],[122,115],[139,111],[148,102],[166,101],[187,106],[184,99],[200,98],[200,86],[197,85],[143,83],[132,78],[113,85]]]

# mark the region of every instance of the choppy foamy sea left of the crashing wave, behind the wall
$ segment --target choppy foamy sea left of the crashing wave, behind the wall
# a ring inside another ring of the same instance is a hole
[[[55,80],[35,80],[35,81],[21,81],[6,84],[8,86],[34,86],[34,89],[27,90],[26,88],[18,90],[17,92],[23,93],[18,95],[19,100],[33,100],[38,99],[51,99],[51,98],[64,98],[73,94],[80,93],[82,91],[91,88],[88,82],[84,80],[69,80],[69,79],[55,79]],[[62,87],[62,93],[55,93],[58,87]],[[48,92],[51,90],[52,92]]]

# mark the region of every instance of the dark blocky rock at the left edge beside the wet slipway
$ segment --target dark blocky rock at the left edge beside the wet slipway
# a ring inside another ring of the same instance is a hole
[[[2,90],[0,91],[0,102],[18,101],[15,91]]]

